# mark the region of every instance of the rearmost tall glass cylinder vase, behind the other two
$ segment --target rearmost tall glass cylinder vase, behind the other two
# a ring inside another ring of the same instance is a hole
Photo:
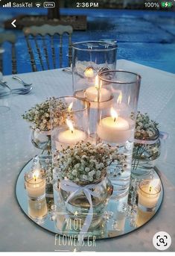
[[[98,117],[98,73],[116,68],[117,45],[109,41],[86,41],[72,47],[73,92],[78,99],[91,102],[89,130],[93,137]],[[104,93],[102,101],[110,99],[110,94]]]

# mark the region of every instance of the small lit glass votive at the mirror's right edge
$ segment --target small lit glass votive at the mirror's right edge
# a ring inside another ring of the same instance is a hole
[[[143,211],[154,211],[159,201],[161,186],[159,180],[144,180],[139,183],[138,207]]]

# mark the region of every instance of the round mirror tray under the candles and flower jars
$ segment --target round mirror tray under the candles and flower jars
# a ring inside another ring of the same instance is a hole
[[[51,231],[54,234],[66,235],[68,237],[71,235],[77,236],[80,231],[76,230],[76,226],[72,228],[72,225],[69,223],[69,229],[65,228],[66,213],[63,213],[63,202],[60,201],[57,189],[51,191],[53,186],[50,186],[50,193],[47,193],[46,191],[45,199],[40,201],[32,201],[28,199],[24,186],[24,175],[31,169],[31,164],[32,160],[22,168],[22,171],[16,181],[16,198],[23,212],[28,216],[28,218],[35,222],[36,225],[39,225],[47,231]],[[144,212],[139,209],[137,206],[137,190],[140,180],[139,178],[131,178],[129,195],[118,200],[110,199],[104,212],[101,225],[99,225],[98,228],[93,230],[90,229],[90,231],[86,232],[85,239],[87,237],[94,236],[97,240],[119,237],[135,231],[137,228],[140,228],[152,219],[162,204],[163,186],[155,169],[151,171],[150,176],[151,177],[149,178],[159,179],[161,184],[159,201],[154,211]]]

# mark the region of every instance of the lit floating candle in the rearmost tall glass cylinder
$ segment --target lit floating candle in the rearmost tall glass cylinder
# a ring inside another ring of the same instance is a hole
[[[88,87],[85,91],[85,97],[90,102],[98,102],[98,75],[95,77],[95,86]],[[101,88],[99,92],[99,102],[106,102],[111,98],[111,93],[105,88]]]

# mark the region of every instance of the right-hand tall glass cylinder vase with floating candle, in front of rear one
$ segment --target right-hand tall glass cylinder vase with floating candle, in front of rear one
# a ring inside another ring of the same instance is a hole
[[[122,159],[122,161],[115,160],[108,169],[114,189],[113,197],[125,196],[130,186],[140,82],[140,75],[123,70],[105,71],[99,74],[99,104],[102,104],[104,90],[112,96],[112,101],[108,107],[98,107],[98,142],[118,146]]]

